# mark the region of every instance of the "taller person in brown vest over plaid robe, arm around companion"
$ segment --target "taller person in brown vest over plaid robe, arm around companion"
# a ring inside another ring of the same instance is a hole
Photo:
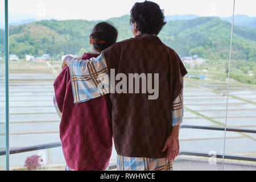
[[[63,67],[68,65],[73,74],[75,103],[109,93],[112,73],[114,79],[119,77],[114,85],[121,82],[120,73],[126,77],[136,73],[157,75],[158,80],[151,83],[159,86],[155,98],[150,98],[152,92],[148,90],[134,93],[134,88],[110,94],[117,169],[170,171],[179,154],[183,77],[187,71],[174,49],[157,36],[166,24],[159,5],[150,1],[135,3],[130,24],[134,38],[115,43],[90,60],[67,56]],[[134,87],[128,83],[123,86]],[[143,90],[143,81],[138,90]]]

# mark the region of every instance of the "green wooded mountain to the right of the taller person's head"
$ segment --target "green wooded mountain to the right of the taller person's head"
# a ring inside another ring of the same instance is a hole
[[[228,59],[231,23],[216,17],[168,22],[159,34],[180,56]],[[256,28],[234,26],[233,59],[256,60]]]

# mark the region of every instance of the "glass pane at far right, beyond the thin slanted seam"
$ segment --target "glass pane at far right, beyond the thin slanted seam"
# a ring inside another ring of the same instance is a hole
[[[256,13],[251,11],[255,5],[254,1],[236,1],[235,11],[243,16],[234,16],[229,89],[229,98],[234,102],[228,105],[227,126],[237,129],[256,130]],[[256,134],[236,134],[237,139],[226,140],[226,154],[255,157]]]

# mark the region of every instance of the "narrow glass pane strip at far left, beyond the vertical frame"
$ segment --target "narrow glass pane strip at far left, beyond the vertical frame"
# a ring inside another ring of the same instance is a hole
[[[6,150],[5,105],[5,1],[0,0],[0,151]],[[0,155],[0,170],[6,169],[6,156]]]

